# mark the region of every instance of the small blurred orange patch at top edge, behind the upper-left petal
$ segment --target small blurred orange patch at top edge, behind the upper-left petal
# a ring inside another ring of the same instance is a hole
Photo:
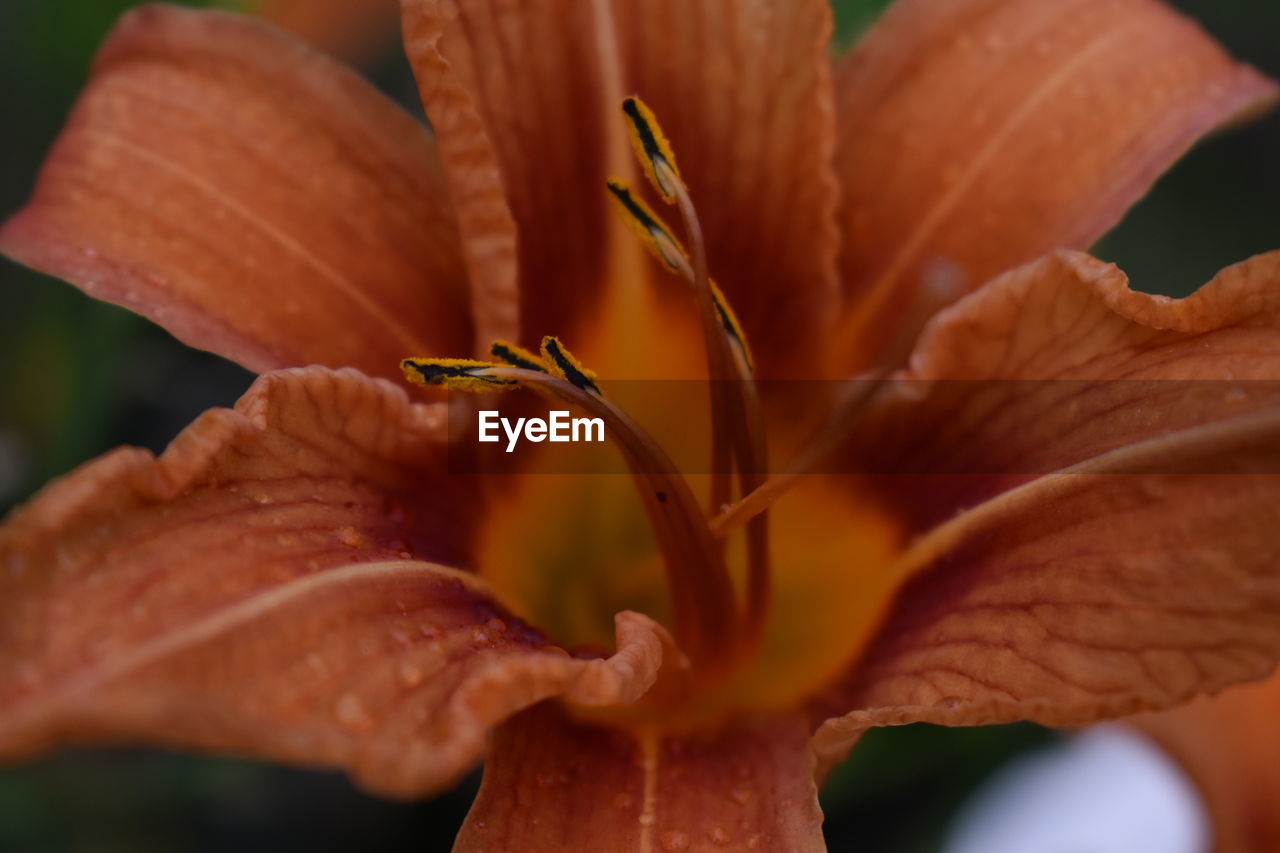
[[[257,0],[257,13],[351,61],[376,59],[396,46],[396,0]]]

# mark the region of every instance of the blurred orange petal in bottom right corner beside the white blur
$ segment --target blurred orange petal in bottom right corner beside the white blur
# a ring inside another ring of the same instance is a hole
[[[1184,708],[1142,715],[1152,735],[1199,785],[1217,853],[1280,849],[1280,676],[1231,688]]]

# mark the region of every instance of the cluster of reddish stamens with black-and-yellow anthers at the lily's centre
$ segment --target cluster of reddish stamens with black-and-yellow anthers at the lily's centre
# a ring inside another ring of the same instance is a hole
[[[737,316],[708,272],[698,211],[671,145],[639,99],[625,99],[622,113],[636,159],[662,200],[678,207],[690,246],[686,250],[625,182],[607,181],[622,222],[662,266],[687,282],[694,296],[709,377],[708,508],[668,453],[605,397],[595,374],[556,337],[543,338],[539,352],[494,342],[493,361],[415,357],[404,359],[401,366],[416,384],[472,393],[526,388],[600,418],[627,462],[657,540],[675,638],[704,675],[724,675],[749,658],[762,640],[771,593],[768,506],[794,474],[765,480],[768,450],[751,352]],[[728,537],[736,533],[745,544],[741,592],[726,562]]]

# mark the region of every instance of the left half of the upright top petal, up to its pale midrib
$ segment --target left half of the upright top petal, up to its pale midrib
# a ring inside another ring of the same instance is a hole
[[[480,342],[536,347],[543,334],[567,334],[567,307],[589,302],[604,274],[591,5],[401,4],[404,49],[457,205]]]

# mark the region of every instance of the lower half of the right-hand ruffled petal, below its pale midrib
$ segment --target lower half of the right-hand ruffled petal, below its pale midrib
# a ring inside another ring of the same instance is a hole
[[[902,558],[820,762],[870,725],[1079,725],[1265,676],[1280,658],[1280,412],[1151,439],[1006,492]]]

